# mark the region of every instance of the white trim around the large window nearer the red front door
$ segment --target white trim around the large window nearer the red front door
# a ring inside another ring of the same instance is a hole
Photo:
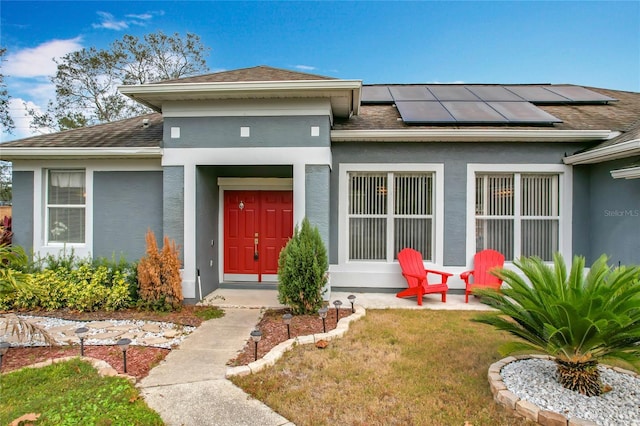
[[[386,269],[386,265],[397,264],[397,261],[365,261],[349,260],[349,172],[431,172],[433,173],[434,191],[434,247],[433,260],[428,265],[443,265],[444,259],[444,165],[441,163],[407,163],[407,164],[361,164],[343,163],[339,169],[339,209],[338,209],[338,263],[340,265],[362,265],[370,268]],[[389,248],[387,248],[389,250]],[[380,265],[376,267],[375,265]]]

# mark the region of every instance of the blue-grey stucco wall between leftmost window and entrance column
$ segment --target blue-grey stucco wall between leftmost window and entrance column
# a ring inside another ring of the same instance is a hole
[[[147,229],[162,238],[162,172],[95,172],[93,202],[94,256],[137,260]]]

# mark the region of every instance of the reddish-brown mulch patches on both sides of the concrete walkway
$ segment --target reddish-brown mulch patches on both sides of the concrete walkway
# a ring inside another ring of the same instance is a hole
[[[202,320],[195,316],[195,312],[201,309],[196,306],[184,306],[180,312],[148,312],[127,309],[116,312],[75,312],[68,310],[59,311],[31,311],[20,312],[25,315],[50,316],[76,321],[98,321],[106,319],[139,319],[147,321],[165,321],[177,324],[199,326]],[[266,311],[262,320],[258,323],[258,329],[262,331],[262,338],[258,343],[258,358],[266,355],[274,346],[288,339],[287,326],[282,321],[282,315],[286,310]],[[340,318],[351,314],[350,309],[340,309]],[[215,321],[215,320],[213,320]],[[336,328],[336,310],[331,308],[325,319],[327,332]],[[318,315],[296,315],[291,320],[291,337],[305,336],[322,333],[322,320]],[[248,336],[247,336],[248,337]],[[229,365],[246,365],[254,361],[255,346],[247,339],[243,350],[238,356],[229,361]],[[122,351],[115,346],[85,346],[85,356],[104,360],[123,373]],[[153,348],[146,346],[131,346],[127,350],[127,374],[140,380],[149,374],[149,371],[162,361],[169,349]],[[0,372],[6,373],[24,366],[35,364],[47,359],[62,358],[65,356],[80,355],[78,346],[56,347],[26,347],[10,348],[2,358]]]

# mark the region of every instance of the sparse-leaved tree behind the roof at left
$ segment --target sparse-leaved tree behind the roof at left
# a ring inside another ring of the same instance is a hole
[[[171,80],[208,71],[208,48],[200,37],[162,31],[142,39],[125,35],[108,49],[84,48],[57,60],[51,81],[56,98],[45,112],[28,109],[31,128],[56,130],[121,120],[148,110],[121,95],[117,86]]]

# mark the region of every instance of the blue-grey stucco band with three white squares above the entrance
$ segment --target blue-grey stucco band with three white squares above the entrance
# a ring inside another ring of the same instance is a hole
[[[311,126],[320,127],[311,136]],[[180,138],[171,138],[171,128],[180,128]],[[249,137],[240,128],[249,127]],[[329,117],[166,117],[165,148],[329,146]]]

